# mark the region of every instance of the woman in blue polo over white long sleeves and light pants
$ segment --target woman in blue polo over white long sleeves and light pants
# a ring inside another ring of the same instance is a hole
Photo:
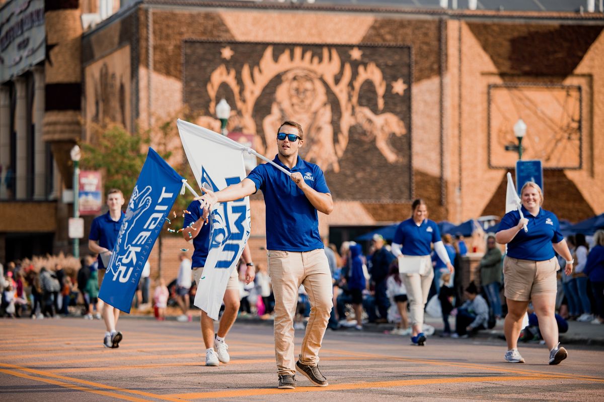
[[[423,266],[419,273],[402,274],[409,299],[409,318],[411,322],[411,342],[423,346],[426,335],[423,333],[423,310],[428,301],[428,292],[434,278],[432,260],[430,258],[431,245],[441,260],[445,262],[450,272],[453,272],[451,259],[440,239],[439,227],[436,222],[428,219],[428,208],[422,199],[416,199],[411,204],[413,215],[406,221],[400,222],[394,233],[392,253],[398,257],[420,256],[423,257]]]

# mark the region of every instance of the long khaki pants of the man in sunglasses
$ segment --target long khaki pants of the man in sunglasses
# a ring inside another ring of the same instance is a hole
[[[315,366],[332,311],[332,275],[323,249],[268,251],[268,269],[275,295],[275,359],[278,374],[294,375],[294,315],[298,287],[304,285],[310,300],[310,318],[302,341],[300,362]]]

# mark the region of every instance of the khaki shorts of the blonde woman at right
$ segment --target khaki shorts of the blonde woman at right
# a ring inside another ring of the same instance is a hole
[[[533,295],[556,294],[558,269],[556,257],[545,261],[506,257],[503,260],[504,295],[514,301],[529,301]]]

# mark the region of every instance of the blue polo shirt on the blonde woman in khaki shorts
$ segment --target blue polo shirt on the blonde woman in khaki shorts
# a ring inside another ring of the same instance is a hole
[[[553,258],[554,248],[551,243],[559,243],[564,240],[556,215],[540,208],[537,216],[533,216],[524,206],[522,214],[524,218],[528,219],[528,232],[521,229],[512,241],[507,243],[507,256],[531,261],[545,261]],[[501,219],[498,232],[515,227],[519,220],[518,210],[506,213]]]

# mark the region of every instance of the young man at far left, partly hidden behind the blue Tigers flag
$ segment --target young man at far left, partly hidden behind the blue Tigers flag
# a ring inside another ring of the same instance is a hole
[[[107,205],[109,206],[109,211],[94,218],[88,236],[88,248],[92,253],[98,254],[99,287],[103,283],[107,268],[103,260],[105,262],[109,261],[109,257],[111,257],[115,247],[115,242],[117,242],[118,233],[120,233],[121,222],[124,220],[124,213],[121,210],[121,206],[124,205],[124,195],[120,190],[109,190],[107,193]],[[103,319],[107,331],[103,338],[103,345],[106,348],[120,347],[122,334],[120,331],[115,330],[118,318],[120,318],[120,310],[104,303]]]

